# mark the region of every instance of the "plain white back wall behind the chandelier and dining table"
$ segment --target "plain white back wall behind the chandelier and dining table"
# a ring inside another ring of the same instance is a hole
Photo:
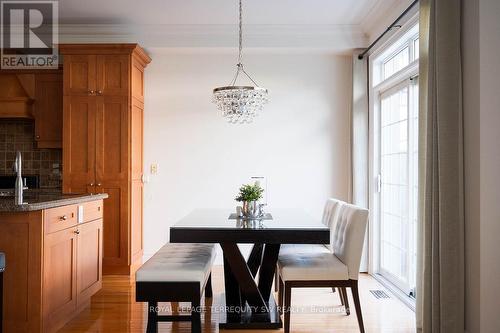
[[[241,183],[268,178],[269,210],[320,217],[329,196],[347,199],[351,61],[330,54],[252,53],[249,73],[271,102],[250,125],[232,125],[211,103],[234,52],[149,50],[146,69],[144,244],[148,256],[168,228],[196,208],[233,210]]]

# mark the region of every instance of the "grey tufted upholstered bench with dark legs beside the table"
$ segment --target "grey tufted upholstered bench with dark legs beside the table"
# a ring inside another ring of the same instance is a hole
[[[168,243],[136,272],[137,302],[148,302],[147,332],[157,332],[161,321],[191,321],[191,332],[201,332],[200,300],[212,297],[211,269],[215,245]],[[191,302],[191,315],[158,315],[158,302]]]

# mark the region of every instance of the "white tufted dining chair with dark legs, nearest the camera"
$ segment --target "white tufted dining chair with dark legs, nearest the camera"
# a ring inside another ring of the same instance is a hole
[[[279,305],[284,309],[285,333],[290,332],[290,305],[292,288],[344,288],[346,309],[350,288],[359,329],[364,333],[363,317],[358,292],[359,265],[368,223],[368,211],[350,204],[343,204],[334,227],[332,253],[288,253],[279,256]],[[284,293],[284,307],[283,307]],[[347,313],[349,314],[349,313]]]

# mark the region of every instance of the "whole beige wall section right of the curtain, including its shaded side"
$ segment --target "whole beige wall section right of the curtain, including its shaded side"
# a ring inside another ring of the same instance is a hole
[[[466,330],[500,332],[500,2],[463,0]]]

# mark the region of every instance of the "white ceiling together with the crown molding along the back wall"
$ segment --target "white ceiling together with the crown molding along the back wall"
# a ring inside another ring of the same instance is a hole
[[[365,47],[411,0],[246,0],[248,48]],[[237,0],[61,0],[60,42],[137,41],[147,48],[234,47]]]

